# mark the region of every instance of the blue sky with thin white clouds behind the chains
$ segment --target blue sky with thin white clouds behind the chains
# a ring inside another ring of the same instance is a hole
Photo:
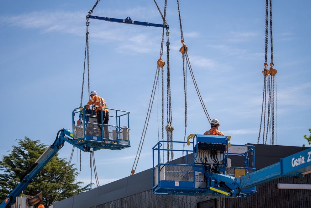
[[[27,136],[45,144],[61,128],[71,129],[79,106],[90,1],[0,2],[0,155]],[[273,2],[274,63],[277,74],[277,144],[301,146],[311,127],[310,1]],[[159,2],[163,10],[163,2]],[[263,1],[180,1],[183,31],[198,87],[220,130],[231,143],[256,143],[264,62]],[[162,22],[153,1],[103,1],[93,15]],[[182,59],[177,3],[169,1],[171,93],[174,140],[184,133]],[[130,111],[131,148],[95,152],[100,184],[129,175],[150,99],[161,28],[90,20],[90,81],[109,108]],[[165,58],[165,57],[164,57]],[[269,60],[270,58],[268,58]],[[270,60],[269,60],[270,61]],[[208,122],[188,73],[187,134],[203,133]],[[84,97],[83,103],[87,103]],[[158,141],[156,101],[137,172],[151,168]],[[65,144],[60,157],[69,159]],[[90,181],[83,153],[81,180]],[[76,163],[76,153],[73,163]],[[25,167],[26,169],[26,167]],[[94,179],[94,176],[93,176]],[[93,180],[94,181],[94,180]],[[93,186],[94,187],[94,186]]]

